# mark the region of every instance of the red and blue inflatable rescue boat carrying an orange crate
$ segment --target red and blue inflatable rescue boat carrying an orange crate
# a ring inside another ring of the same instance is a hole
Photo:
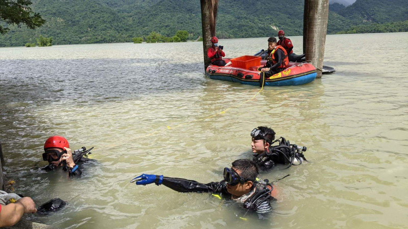
[[[312,82],[316,78],[316,68],[309,63],[289,62],[289,67],[270,77],[258,71],[266,64],[261,56],[244,55],[234,59],[222,59],[225,66],[210,65],[206,75],[211,79],[240,82],[249,85],[286,86]]]

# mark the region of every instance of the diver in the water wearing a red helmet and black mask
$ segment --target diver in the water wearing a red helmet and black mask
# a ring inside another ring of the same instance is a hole
[[[62,136],[51,136],[44,144],[45,153],[42,154],[42,159],[48,161],[48,165],[42,167],[43,170],[56,170],[58,167],[62,167],[63,170],[69,171],[69,176],[80,176],[82,174],[78,163],[86,162],[90,159],[85,158],[86,154],[91,154],[89,150],[83,147],[80,150],[75,150],[72,154],[69,149],[68,140]]]

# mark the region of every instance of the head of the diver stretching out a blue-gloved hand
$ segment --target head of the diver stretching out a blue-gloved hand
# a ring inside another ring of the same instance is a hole
[[[224,168],[224,179],[228,193],[242,196],[252,190],[258,176],[258,165],[252,160],[239,159],[232,163],[231,168]]]

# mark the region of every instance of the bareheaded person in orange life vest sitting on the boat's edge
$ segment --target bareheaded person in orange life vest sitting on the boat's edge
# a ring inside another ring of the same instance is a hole
[[[265,77],[282,72],[289,65],[288,53],[284,47],[276,45],[276,38],[274,37],[268,39],[267,60],[266,65],[258,69],[258,71],[262,71],[261,74],[265,74]]]

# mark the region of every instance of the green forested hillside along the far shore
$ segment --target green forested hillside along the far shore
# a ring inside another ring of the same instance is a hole
[[[220,0],[217,36],[248,38],[302,35],[303,0]],[[291,7],[288,7],[291,6]],[[171,37],[177,30],[189,39],[201,35],[198,0],[36,0],[32,8],[47,22],[37,30],[11,26],[0,36],[0,46],[22,46],[39,35],[53,37],[53,44],[131,42],[158,32]],[[347,31],[351,26],[408,20],[406,0],[357,0],[329,12],[327,32]]]

